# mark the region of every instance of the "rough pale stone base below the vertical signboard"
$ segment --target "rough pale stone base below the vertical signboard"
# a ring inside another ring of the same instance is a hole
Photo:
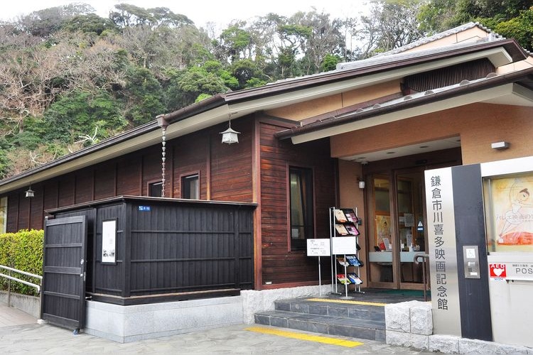
[[[386,342],[445,354],[533,354],[513,346],[453,335],[433,334],[431,302],[410,301],[385,306]]]

